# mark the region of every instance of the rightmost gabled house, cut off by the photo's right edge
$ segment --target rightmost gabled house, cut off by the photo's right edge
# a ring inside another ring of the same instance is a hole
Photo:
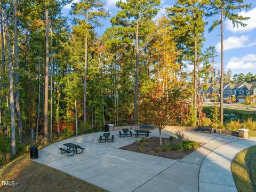
[[[249,84],[245,84],[239,89],[237,100],[239,103],[245,102],[245,98],[250,95],[252,97],[252,101],[255,102],[256,96],[256,82],[252,82]]]

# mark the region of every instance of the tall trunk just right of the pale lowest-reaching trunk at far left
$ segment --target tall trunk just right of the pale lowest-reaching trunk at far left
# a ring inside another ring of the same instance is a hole
[[[19,60],[18,60],[18,24],[17,24],[17,0],[14,0],[14,55],[15,55],[15,68],[16,70],[19,67]],[[16,79],[16,86],[19,85],[19,74],[15,72],[15,79]],[[19,139],[22,143],[22,122],[21,122],[21,115],[20,115],[20,91],[19,89],[15,92],[15,103],[17,109],[17,117],[18,117],[18,129],[19,129]]]

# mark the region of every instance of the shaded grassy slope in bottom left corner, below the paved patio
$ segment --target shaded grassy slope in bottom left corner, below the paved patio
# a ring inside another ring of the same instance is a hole
[[[1,181],[15,181],[14,186],[2,186],[0,191],[105,191],[69,174],[30,161],[29,155],[15,159],[0,169]]]

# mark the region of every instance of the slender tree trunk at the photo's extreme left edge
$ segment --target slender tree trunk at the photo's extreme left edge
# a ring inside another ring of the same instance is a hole
[[[3,27],[3,22],[5,22],[4,19],[4,10],[2,8],[2,1],[0,1],[0,26],[1,26],[1,43],[2,43],[2,66],[1,66],[1,78],[5,79],[5,37],[4,37],[4,27]],[[3,83],[3,90],[5,90],[5,83]],[[1,86],[2,89],[2,86]],[[6,97],[5,93],[3,93],[3,103],[6,103]],[[2,103],[1,103],[2,104]],[[1,105],[1,112],[4,113],[5,107],[4,105]],[[2,115],[2,114],[1,114]],[[2,122],[1,122],[1,127],[2,127]],[[7,134],[7,127],[6,125],[3,126],[4,128],[4,133]]]

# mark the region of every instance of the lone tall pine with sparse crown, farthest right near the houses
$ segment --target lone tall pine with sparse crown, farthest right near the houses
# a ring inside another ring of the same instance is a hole
[[[213,17],[217,15],[220,20],[214,20],[212,26],[209,28],[209,32],[215,27],[220,25],[220,42],[221,42],[221,78],[220,78],[220,123],[223,124],[223,82],[224,82],[224,67],[223,67],[223,24],[224,20],[229,19],[233,22],[234,27],[245,27],[244,20],[250,18],[238,15],[235,11],[239,11],[243,8],[248,9],[250,4],[243,4],[244,0],[208,0],[206,6],[206,16]]]

